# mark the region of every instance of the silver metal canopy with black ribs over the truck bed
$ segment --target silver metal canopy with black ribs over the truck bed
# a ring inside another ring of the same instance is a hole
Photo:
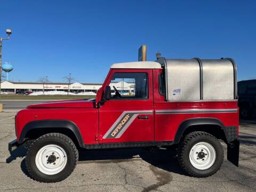
[[[167,101],[237,99],[233,59],[156,60],[164,69]]]

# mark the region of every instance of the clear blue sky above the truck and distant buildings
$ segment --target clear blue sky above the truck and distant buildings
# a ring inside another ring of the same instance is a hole
[[[256,78],[256,1],[1,1],[10,80],[101,83],[115,62],[148,46],[165,58],[231,57],[238,80]]]

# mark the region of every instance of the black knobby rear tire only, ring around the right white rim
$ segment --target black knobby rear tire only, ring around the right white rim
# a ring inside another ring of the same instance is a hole
[[[199,142],[209,143],[215,150],[215,162],[211,167],[209,167],[209,169],[206,170],[196,169],[196,167],[194,167],[190,163],[190,150],[194,145],[196,145],[196,143]],[[223,162],[223,157],[223,148],[218,139],[215,138],[213,135],[202,131],[191,132],[188,135],[186,135],[186,137],[180,143],[178,148],[179,164],[182,167],[182,169],[185,170],[192,177],[205,178],[213,175],[220,169]]]

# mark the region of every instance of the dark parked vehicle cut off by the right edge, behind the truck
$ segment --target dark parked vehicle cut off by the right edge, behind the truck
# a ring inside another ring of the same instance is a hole
[[[256,79],[240,81],[238,87],[238,106],[242,118],[256,116]]]

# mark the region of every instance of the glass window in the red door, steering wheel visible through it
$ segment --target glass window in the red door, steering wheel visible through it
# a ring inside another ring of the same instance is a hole
[[[109,86],[111,99],[148,99],[147,73],[115,73]]]

